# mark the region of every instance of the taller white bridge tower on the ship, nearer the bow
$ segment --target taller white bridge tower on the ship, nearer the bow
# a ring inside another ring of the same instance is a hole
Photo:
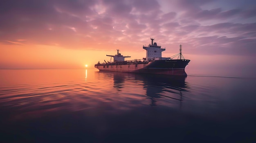
[[[165,48],[161,48],[160,45],[157,45],[157,43],[153,43],[154,39],[150,38],[151,44],[148,46],[143,46],[143,48],[146,50],[146,60],[151,61],[155,58],[161,58],[162,57],[162,51],[165,51]]]

